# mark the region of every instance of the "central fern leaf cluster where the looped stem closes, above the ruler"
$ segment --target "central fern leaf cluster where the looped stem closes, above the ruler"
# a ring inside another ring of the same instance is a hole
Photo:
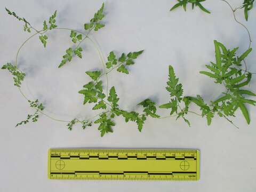
[[[134,65],[134,59],[137,59],[138,56],[143,51],[130,52],[128,54],[122,53],[119,59],[116,59],[116,55],[113,51],[109,53],[108,61],[106,62],[106,68],[109,71],[106,74],[110,73],[111,70],[117,68],[118,70],[121,66]],[[131,64],[132,63],[132,64]],[[125,74],[129,74],[127,68]],[[92,110],[104,110],[100,113],[100,118],[94,121],[95,124],[99,124],[98,130],[101,132],[101,137],[108,132],[113,132],[113,126],[115,126],[114,117],[122,115],[125,118],[125,122],[135,122],[138,125],[138,130],[141,131],[143,124],[146,121],[147,116],[153,118],[159,118],[159,115],[156,114],[156,103],[150,99],[146,99],[138,104],[144,108],[142,114],[137,113],[136,111],[126,111],[119,108],[118,105],[118,95],[116,93],[115,87],[111,87],[109,90],[109,96],[106,98],[106,94],[103,93],[102,81],[100,78],[104,75],[101,71],[86,71],[86,74],[91,77],[92,81],[85,84],[83,89],[78,91],[84,97],[84,105],[86,103],[96,103]]]

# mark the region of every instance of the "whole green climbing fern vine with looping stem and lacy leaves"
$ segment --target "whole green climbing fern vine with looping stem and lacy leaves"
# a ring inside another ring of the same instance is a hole
[[[183,9],[186,11],[187,5],[191,4],[193,9],[197,6],[202,11],[210,13],[210,11],[206,10],[202,5],[202,2],[205,0],[177,1],[178,3],[172,7],[171,11],[177,7],[183,7]],[[254,0],[244,0],[243,5],[240,7],[237,7],[236,9],[233,9],[231,6],[230,7],[233,12],[235,12],[237,9],[244,9],[245,19],[247,20],[248,11],[252,9],[253,2]],[[94,14],[94,17],[90,19],[89,22],[84,23],[84,31],[58,27],[56,22],[57,11],[55,11],[47,21],[43,21],[43,28],[41,30],[34,28],[25,18],[19,17],[15,12],[12,12],[7,8],[6,11],[8,14],[23,22],[23,29],[26,32],[35,32],[34,35],[31,35],[25,41],[25,43],[31,37],[38,36],[43,46],[46,47],[47,41],[49,41],[48,33],[50,33],[51,30],[62,29],[69,31],[68,38],[73,45],[66,48],[65,53],[60,60],[58,67],[62,68],[65,67],[67,62],[70,62],[73,57],[83,57],[83,49],[81,44],[86,39],[89,39],[94,46],[97,46],[97,44],[90,37],[90,33],[93,31],[97,32],[99,29],[105,27],[105,23],[102,21],[103,18],[105,18],[104,8],[105,5],[103,3],[100,9]],[[251,45],[250,33],[249,38]],[[26,74],[17,67],[17,60],[19,51],[25,43],[19,47],[15,62],[13,64],[8,62],[2,66],[2,69],[8,70],[13,75],[14,85],[18,87],[21,93],[21,83]],[[252,51],[251,46],[249,46],[249,49],[239,56],[237,56],[238,47],[229,50],[225,45],[217,41],[214,41],[214,47],[215,61],[210,62],[209,65],[206,65],[208,70],[200,71],[200,73],[214,79],[214,83],[223,85],[226,91],[220,93],[219,98],[211,101],[210,103],[206,103],[201,95],[198,94],[196,97],[185,96],[183,95],[183,86],[179,82],[179,78],[175,75],[173,67],[169,66],[169,79],[167,81],[166,90],[170,94],[170,101],[160,105],[159,108],[169,109],[170,115],[167,117],[175,117],[176,119],[181,118],[189,126],[190,122],[188,120],[188,115],[190,113],[197,114],[194,111],[191,111],[192,103],[199,107],[199,110],[201,111],[201,114],[199,115],[206,118],[207,125],[211,124],[212,119],[216,115],[227,119],[227,121],[235,125],[233,121],[229,119],[229,117],[234,117],[237,110],[241,110],[246,122],[249,124],[250,114],[247,110],[247,105],[255,105],[256,101],[252,100],[251,97],[255,97],[256,94],[254,94],[251,90],[247,90],[247,85],[249,85],[251,81],[252,73],[247,71],[246,67],[245,69],[242,69],[242,65],[246,66],[245,59]],[[149,98],[146,98],[137,104],[137,107],[141,109],[140,111],[142,111],[141,113],[138,111],[127,111],[122,109],[119,102],[124,102],[124,100],[118,97],[118,90],[116,87],[111,86],[111,88],[108,89],[108,75],[113,73],[113,71],[118,72],[119,75],[130,74],[130,67],[135,65],[135,62],[137,62],[137,59],[141,56],[143,50],[136,50],[121,54],[111,51],[108,54],[107,61],[105,62],[102,59],[102,52],[100,51],[99,47],[96,48],[99,52],[103,68],[99,70],[85,71],[85,75],[90,77],[90,81],[85,82],[84,86],[81,87],[81,90],[79,90],[78,93],[81,94],[81,103],[83,103],[85,107],[88,107],[89,103],[93,104],[91,109],[99,111],[97,115],[91,118],[84,117],[84,119],[73,118],[70,121],[55,119],[42,112],[44,106],[38,101],[38,99],[31,101],[27,99],[25,94],[22,93],[22,95],[28,100],[30,107],[34,109],[34,113],[27,115],[27,119],[21,121],[16,126],[27,124],[28,122],[37,122],[39,114],[44,114],[55,121],[66,122],[69,130],[72,130],[74,125],[77,123],[82,125],[82,129],[96,124],[98,125],[98,130],[100,131],[100,135],[102,137],[106,133],[113,132],[116,125],[115,117],[117,116],[122,116],[124,118],[124,122],[133,122],[136,124],[140,132],[142,131],[143,125],[148,118],[165,118],[157,114],[157,103]],[[107,79],[107,86],[103,86],[103,78]]]

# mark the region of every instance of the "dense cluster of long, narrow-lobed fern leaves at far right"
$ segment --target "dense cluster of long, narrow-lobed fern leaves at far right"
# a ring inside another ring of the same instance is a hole
[[[246,95],[256,96],[249,90],[244,90],[244,86],[251,81],[252,74],[243,71],[240,67],[242,61],[252,51],[252,48],[246,50],[242,55],[236,57],[238,47],[228,50],[220,42],[214,41],[216,62],[206,65],[209,71],[201,71],[201,74],[215,79],[215,83],[224,84],[226,92],[223,96],[212,101],[211,107],[213,113],[222,116],[235,116],[235,111],[241,109],[246,122],[250,123],[250,117],[245,103],[255,105],[256,101],[245,98]]]

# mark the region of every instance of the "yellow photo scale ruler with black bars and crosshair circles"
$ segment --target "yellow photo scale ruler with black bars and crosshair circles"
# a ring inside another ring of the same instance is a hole
[[[199,180],[195,149],[50,149],[49,179]]]

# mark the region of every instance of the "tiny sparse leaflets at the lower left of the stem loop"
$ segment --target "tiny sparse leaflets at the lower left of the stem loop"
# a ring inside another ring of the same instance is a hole
[[[30,107],[36,109],[36,111],[35,111],[35,113],[34,113],[33,115],[28,114],[27,119],[24,120],[24,121],[21,121],[20,123],[18,123],[18,124],[16,125],[16,127],[17,127],[17,126],[20,126],[20,125],[22,125],[22,124],[27,124],[27,123],[30,122],[30,121],[32,121],[32,122],[34,122],[34,123],[37,122],[38,117],[39,117],[39,114],[38,114],[38,113],[39,113],[40,111],[44,110],[43,104],[42,104],[42,103],[39,103],[38,99],[36,99],[35,101],[30,101],[30,100],[28,100],[28,102],[29,102]]]

